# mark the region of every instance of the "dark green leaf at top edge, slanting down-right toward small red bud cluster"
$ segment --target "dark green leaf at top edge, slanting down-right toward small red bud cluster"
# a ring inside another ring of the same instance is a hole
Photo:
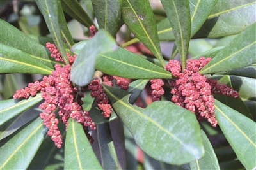
[[[77,1],[63,0],[61,1],[61,5],[65,13],[83,24],[85,27],[89,28],[90,26],[94,25],[86,11],[83,10],[82,6]]]

